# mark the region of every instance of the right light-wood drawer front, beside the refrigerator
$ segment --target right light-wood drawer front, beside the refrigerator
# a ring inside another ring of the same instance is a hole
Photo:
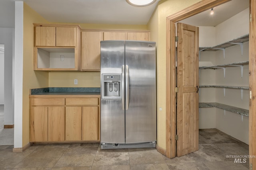
[[[98,105],[98,98],[66,98],[66,105]]]

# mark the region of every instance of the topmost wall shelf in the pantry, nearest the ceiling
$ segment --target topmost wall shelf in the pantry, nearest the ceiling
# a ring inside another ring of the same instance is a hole
[[[217,51],[217,50],[232,47],[234,45],[237,45],[238,43],[244,43],[247,41],[249,41],[249,34],[246,34],[242,37],[238,37],[237,39],[233,39],[231,41],[228,41],[213,47],[199,47],[199,51]]]

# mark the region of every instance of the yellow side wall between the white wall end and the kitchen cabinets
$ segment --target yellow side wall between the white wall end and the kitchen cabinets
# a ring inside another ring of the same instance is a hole
[[[47,23],[38,13],[24,3],[23,13],[23,105],[22,147],[29,143],[29,90],[48,87],[48,72],[34,71],[34,25]]]

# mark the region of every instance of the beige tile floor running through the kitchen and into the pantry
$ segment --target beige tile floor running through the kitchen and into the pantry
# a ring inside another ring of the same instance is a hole
[[[199,131],[199,150],[168,159],[156,149],[101,150],[99,143],[33,145],[24,152],[0,146],[0,169],[17,170],[247,170],[226,155],[248,155],[248,145],[218,131]]]

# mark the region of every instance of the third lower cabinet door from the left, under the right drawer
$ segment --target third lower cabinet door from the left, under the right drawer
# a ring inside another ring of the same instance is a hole
[[[82,107],[66,107],[66,141],[82,140]]]

